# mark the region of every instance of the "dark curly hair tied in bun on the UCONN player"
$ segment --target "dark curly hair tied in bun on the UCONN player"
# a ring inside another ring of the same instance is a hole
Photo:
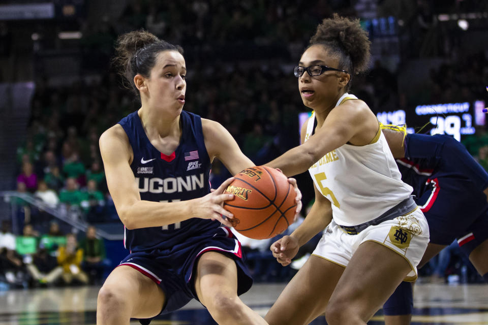
[[[134,84],[135,75],[149,77],[151,69],[156,64],[156,57],[162,51],[177,51],[183,54],[183,49],[179,45],[160,40],[148,31],[135,30],[118,37],[112,63],[129,83],[125,83],[125,86],[139,95]]]

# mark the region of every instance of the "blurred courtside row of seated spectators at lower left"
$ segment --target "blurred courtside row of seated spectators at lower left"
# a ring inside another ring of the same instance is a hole
[[[101,284],[107,266],[105,244],[89,226],[79,242],[51,221],[39,234],[26,224],[21,235],[10,231],[8,221],[0,229],[0,289],[76,284]]]

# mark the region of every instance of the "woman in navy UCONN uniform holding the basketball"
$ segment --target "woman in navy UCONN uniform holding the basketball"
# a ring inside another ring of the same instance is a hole
[[[117,40],[117,57],[141,108],[100,137],[107,185],[130,254],[100,289],[97,324],[129,324],[199,300],[219,324],[266,324],[242,303],[252,279],[223,202],[232,181],[210,190],[211,161],[232,174],[254,166],[219,123],[182,110],[182,49],[145,31]],[[297,210],[301,194],[296,182]],[[298,211],[297,211],[298,213]]]

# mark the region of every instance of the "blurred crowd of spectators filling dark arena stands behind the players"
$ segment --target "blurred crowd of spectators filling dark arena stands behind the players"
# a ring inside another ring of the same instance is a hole
[[[322,18],[333,12],[355,16],[357,3],[360,2],[317,1],[310,6],[303,0],[250,0],[236,5],[220,0],[191,0],[176,5],[131,1],[117,23],[109,19],[84,23],[80,40],[83,67],[92,73],[89,78],[63,86],[53,86],[42,75],[36,77],[31,119],[17,150],[18,171],[12,188],[74,220],[94,224],[118,221],[106,186],[98,139],[105,129],[140,107],[109,64],[116,36],[139,28],[184,47],[188,68],[185,109],[222,123],[256,165],[266,163],[299,143],[298,113],[307,108],[301,103],[292,74],[293,62]],[[418,10],[413,12],[419,19],[411,20],[420,26],[434,24],[433,12],[429,11],[434,2],[418,3]],[[5,25],[0,30],[5,30]],[[450,46],[453,49],[456,44]],[[488,52],[469,56],[463,56],[462,51],[452,53],[444,53],[445,63],[430,71],[429,87],[419,91],[415,101],[399,89],[396,71],[387,69],[381,60],[372,64],[367,75],[353,76],[351,92],[374,112],[409,111],[419,104],[485,98],[486,90],[479,85],[488,80]],[[464,144],[488,169],[485,128],[467,137]],[[227,176],[228,172],[216,161],[212,185],[220,184]],[[304,192],[305,202],[312,198],[313,191],[307,195]],[[73,235],[53,235],[47,231],[52,225],[51,214],[22,199],[12,200],[18,207],[18,229],[24,233],[14,235],[7,228],[2,229],[0,273],[5,280],[31,285],[93,281],[93,269],[86,265],[92,263],[87,261],[100,242],[86,244],[94,240],[90,231],[80,244]],[[58,239],[43,241],[46,236]],[[264,252],[262,247],[250,244],[247,249],[251,256],[257,256],[255,268],[267,270],[259,263],[263,255],[253,255]],[[98,259],[93,261],[101,263],[105,258],[103,249],[95,250]],[[67,254],[73,263],[67,264],[63,257]],[[306,252],[301,256],[306,256]],[[73,270],[77,270],[76,274]],[[25,278],[20,276],[18,280],[19,272]],[[269,274],[265,274],[263,279],[268,278]]]

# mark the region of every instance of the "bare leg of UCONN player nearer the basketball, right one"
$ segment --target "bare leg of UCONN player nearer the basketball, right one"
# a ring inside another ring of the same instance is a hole
[[[200,302],[220,325],[267,324],[237,296],[237,267],[224,254],[210,251],[200,257],[195,290]]]

